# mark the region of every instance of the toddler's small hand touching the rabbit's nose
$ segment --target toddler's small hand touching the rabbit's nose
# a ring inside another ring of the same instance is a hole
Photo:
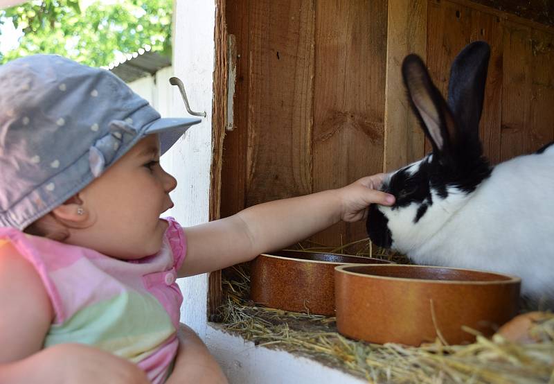
[[[350,185],[339,189],[342,202],[341,219],[354,222],[367,218],[369,204],[392,205],[393,195],[377,191],[383,184],[385,174],[362,177]]]

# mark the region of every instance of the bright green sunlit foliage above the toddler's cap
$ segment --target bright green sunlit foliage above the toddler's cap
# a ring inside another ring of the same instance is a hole
[[[57,53],[100,67],[116,52],[145,45],[171,55],[172,0],[96,1],[86,9],[78,0],[33,0],[0,11],[24,35],[19,46],[0,53],[0,63],[34,53]]]

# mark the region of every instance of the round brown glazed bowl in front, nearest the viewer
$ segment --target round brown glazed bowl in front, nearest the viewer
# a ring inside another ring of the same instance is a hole
[[[474,342],[517,315],[521,279],[423,265],[342,265],[334,270],[337,328],[348,338],[418,346]]]

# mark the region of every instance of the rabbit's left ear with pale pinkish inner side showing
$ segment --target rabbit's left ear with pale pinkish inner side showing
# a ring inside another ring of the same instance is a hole
[[[456,140],[456,124],[418,55],[404,58],[402,76],[413,110],[433,144],[433,152],[437,155],[449,152],[452,142]]]

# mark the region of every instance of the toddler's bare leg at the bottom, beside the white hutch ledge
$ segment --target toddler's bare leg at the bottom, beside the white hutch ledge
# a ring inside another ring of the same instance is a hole
[[[177,335],[179,336],[179,351],[177,352],[173,372],[166,381],[167,384],[227,383],[227,379],[217,361],[211,356],[208,348],[195,331],[185,324],[181,324]]]

